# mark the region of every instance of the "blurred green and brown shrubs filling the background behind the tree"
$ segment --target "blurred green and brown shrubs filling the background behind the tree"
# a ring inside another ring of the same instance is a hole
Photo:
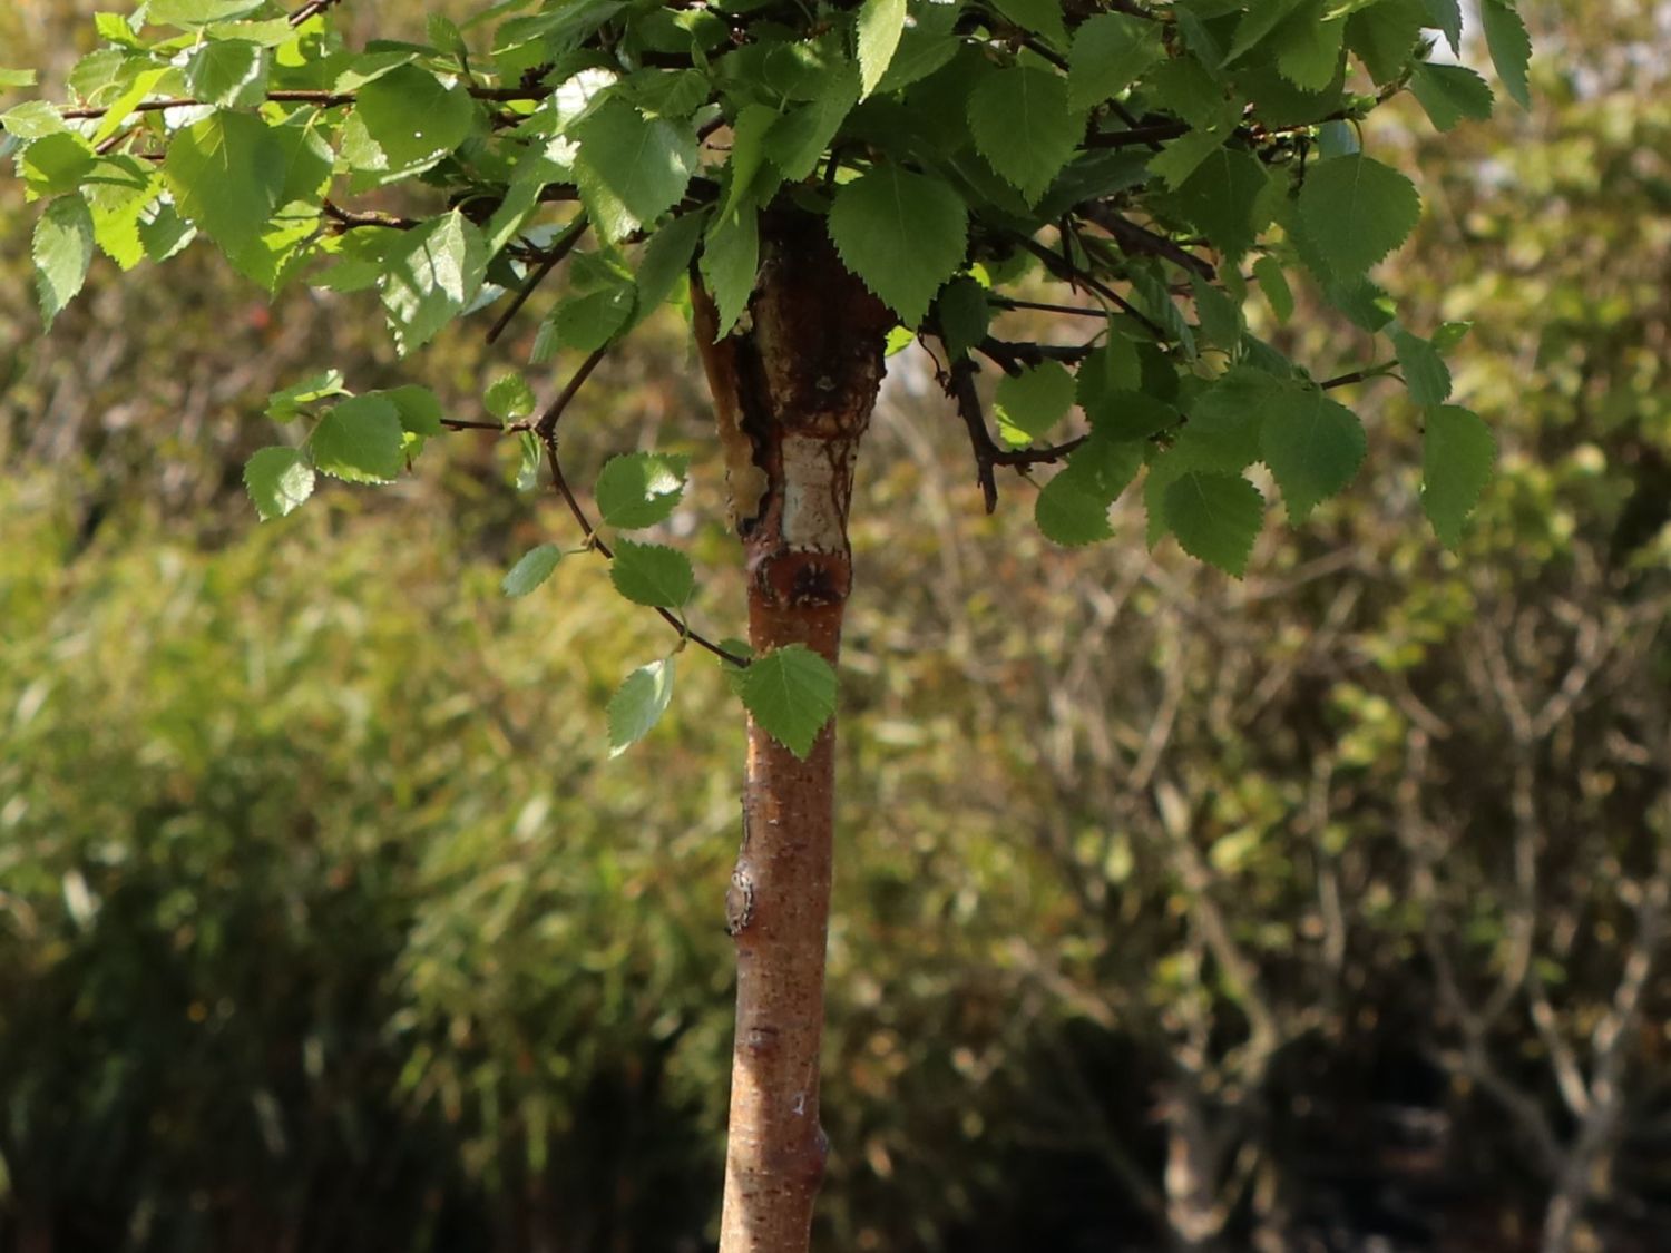
[[[0,12],[43,82],[87,0]],[[1499,434],[1465,551],[1419,416],[1230,583],[979,513],[896,358],[856,508],[820,1246],[1671,1246],[1671,10],[1526,0],[1534,109],[1399,127],[1405,321],[1472,321]],[[364,17],[358,20],[366,20]],[[353,299],[95,269],[38,339],[0,192],[0,1248],[700,1250],[742,737],[573,560],[515,449],[257,526],[264,394],[404,378]],[[530,322],[533,319],[528,319]],[[471,332],[476,327],[470,327]],[[1303,302],[1318,374],[1362,364]],[[531,326],[518,349],[525,351]],[[520,358],[438,342],[460,411]],[[561,364],[561,363],[560,363]],[[1390,389],[1389,389],[1390,391]],[[683,327],[576,466],[707,439]],[[735,628],[705,469],[673,520]]]

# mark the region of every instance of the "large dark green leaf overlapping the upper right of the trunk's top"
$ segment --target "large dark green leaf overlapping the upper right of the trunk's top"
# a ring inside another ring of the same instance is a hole
[[[876,165],[836,190],[829,232],[847,269],[914,327],[962,266],[969,217],[944,182]]]

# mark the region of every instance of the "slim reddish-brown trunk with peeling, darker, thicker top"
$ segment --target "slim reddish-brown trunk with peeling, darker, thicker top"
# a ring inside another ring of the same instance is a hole
[[[824,222],[760,219],[760,271],[739,326],[692,284],[749,571],[755,653],[800,643],[830,665],[852,585],[847,506],[882,378],[887,311],[842,269]],[[742,849],[725,897],[737,1036],[720,1253],[800,1253],[824,1178],[819,1042],[829,931],[836,725],[799,760],[750,720]]]

